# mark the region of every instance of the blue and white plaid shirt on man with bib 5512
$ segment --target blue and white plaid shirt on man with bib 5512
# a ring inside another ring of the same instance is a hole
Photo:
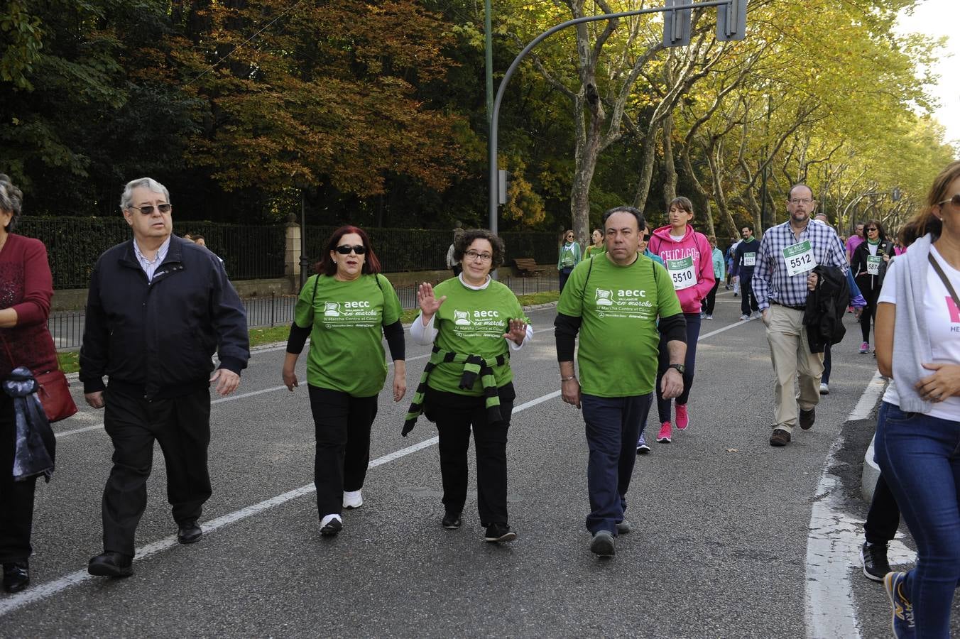
[[[781,225],[772,226],[760,240],[754,279],[751,282],[756,304],[761,311],[769,307],[771,301],[784,306],[806,304],[806,276],[809,272],[791,277],[783,259],[783,249],[800,244],[804,240],[810,241],[813,257],[818,265],[837,267],[845,273],[848,271],[847,254],[831,226],[810,220],[799,238],[793,234],[789,220]]]

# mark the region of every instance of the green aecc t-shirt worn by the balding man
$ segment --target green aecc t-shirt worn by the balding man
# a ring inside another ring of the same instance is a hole
[[[577,352],[580,389],[599,397],[654,390],[660,343],[657,319],[682,313],[670,275],[645,255],[637,255],[627,267],[613,264],[606,255],[577,265],[557,312],[582,318]]]

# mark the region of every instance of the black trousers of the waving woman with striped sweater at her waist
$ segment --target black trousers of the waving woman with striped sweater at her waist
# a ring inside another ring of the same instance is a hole
[[[428,389],[423,412],[437,424],[444,509],[460,513],[467,503],[470,430],[477,459],[477,510],[484,526],[507,523],[507,431],[514,412],[514,385],[499,389],[502,421],[490,423],[483,397]]]

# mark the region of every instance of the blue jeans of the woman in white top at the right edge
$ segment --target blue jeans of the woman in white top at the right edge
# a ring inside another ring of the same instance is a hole
[[[960,422],[903,413],[883,402],[876,420],[876,462],[917,541],[907,573],[918,637],[950,635],[960,584]]]

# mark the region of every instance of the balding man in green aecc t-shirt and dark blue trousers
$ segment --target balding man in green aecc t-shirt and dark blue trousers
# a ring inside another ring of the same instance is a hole
[[[554,326],[564,402],[582,405],[587,423],[590,551],[612,556],[613,537],[630,532],[623,511],[636,439],[653,402],[660,334],[670,356],[663,396],[673,398],[684,390],[686,322],[670,275],[637,252],[643,214],[617,206],[603,220],[607,252],[570,273]]]

